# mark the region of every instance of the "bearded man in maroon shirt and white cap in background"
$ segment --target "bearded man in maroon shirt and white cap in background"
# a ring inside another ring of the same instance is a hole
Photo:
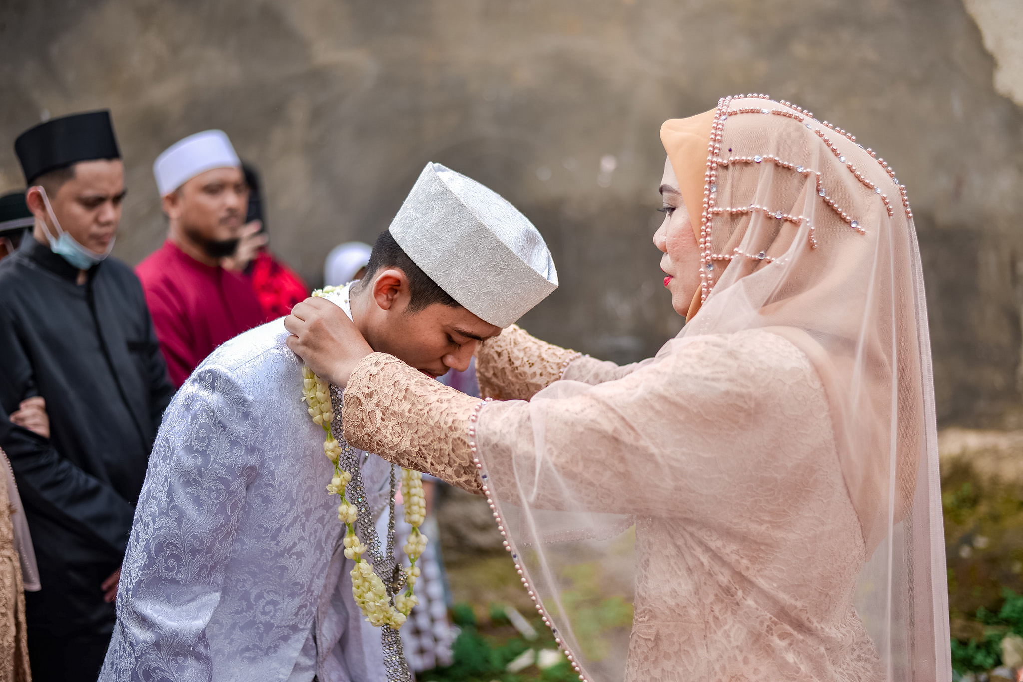
[[[135,272],[171,381],[180,387],[214,349],[265,319],[250,279],[222,267],[244,228],[249,186],[234,147],[219,130],[171,145],[152,172],[170,226],[164,245]]]

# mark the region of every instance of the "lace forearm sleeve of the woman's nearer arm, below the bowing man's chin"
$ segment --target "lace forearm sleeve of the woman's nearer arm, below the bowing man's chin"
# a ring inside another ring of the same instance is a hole
[[[345,389],[345,440],[471,493],[480,479],[469,445],[480,400],[428,378],[386,353],[366,356]]]

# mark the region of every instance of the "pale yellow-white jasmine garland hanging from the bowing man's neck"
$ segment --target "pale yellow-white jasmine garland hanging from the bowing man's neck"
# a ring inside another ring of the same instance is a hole
[[[322,289],[316,289],[313,291],[313,295],[324,295],[336,288],[338,287],[326,286]],[[412,594],[412,586],[415,585],[415,579],[419,576],[419,567],[415,565],[415,560],[422,554],[427,546],[427,536],[419,532],[419,526],[427,513],[422,474],[411,469],[401,470],[405,520],[412,527],[412,532],[404,547],[409,559],[409,566],[403,570],[407,589],[404,594],[395,594],[392,604],[384,581],[373,572],[369,561],[363,558],[362,555],[367,553],[368,549],[355,533],[358,508],[345,496],[347,486],[352,481],[352,473],[341,468],[341,444],[330,433],[330,424],[335,417],[330,404],[330,387],[326,381],[316,376],[311,369],[303,367],[302,397],[308,406],[309,416],[313,423],[326,433],[323,440],[323,454],[333,464],[333,478],[327,484],[326,492],[328,495],[338,495],[341,498],[341,504],[338,505],[338,520],[345,525],[345,556],[355,561],[355,566],[349,574],[352,577],[352,595],[355,597],[355,603],[359,605],[362,615],[371,625],[375,627],[386,625],[397,630],[405,623],[408,613],[419,602],[418,598]],[[394,514],[393,507],[391,514],[392,516]],[[391,520],[393,524],[394,519]]]

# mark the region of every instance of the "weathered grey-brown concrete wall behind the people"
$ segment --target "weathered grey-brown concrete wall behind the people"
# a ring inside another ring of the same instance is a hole
[[[988,25],[1016,6],[969,4]],[[135,263],[165,230],[153,158],[222,128],[263,171],[272,247],[316,284],[328,247],[370,240],[440,162],[547,238],[562,287],[524,325],[634,360],[681,324],[650,240],[659,126],[766,92],[897,169],[939,417],[1016,427],[1023,111],[994,69],[961,0],[0,0],[0,190],[23,183],[17,133],[109,107],[130,189],[115,253]]]

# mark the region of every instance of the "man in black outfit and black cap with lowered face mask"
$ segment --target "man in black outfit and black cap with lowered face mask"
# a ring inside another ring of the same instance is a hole
[[[33,675],[91,681],[174,389],[142,286],[108,258],[125,195],[109,113],[49,121],[14,148],[35,226],[0,261],[0,447],[45,586],[26,595]]]

